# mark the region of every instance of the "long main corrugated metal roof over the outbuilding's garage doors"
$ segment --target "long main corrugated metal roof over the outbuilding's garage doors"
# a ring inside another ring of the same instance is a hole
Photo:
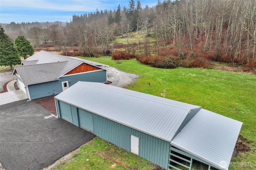
[[[169,142],[190,109],[198,108],[95,82],[77,82],[55,98]]]

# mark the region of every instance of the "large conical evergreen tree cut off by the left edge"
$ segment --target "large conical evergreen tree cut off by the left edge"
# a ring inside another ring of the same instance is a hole
[[[20,64],[20,62],[14,43],[0,25],[0,66],[10,66],[10,69],[12,69],[13,65]]]

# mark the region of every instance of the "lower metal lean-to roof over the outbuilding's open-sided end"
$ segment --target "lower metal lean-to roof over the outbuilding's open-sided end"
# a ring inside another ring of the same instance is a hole
[[[240,121],[200,109],[171,144],[228,170],[241,126]],[[226,162],[225,167],[221,161]]]

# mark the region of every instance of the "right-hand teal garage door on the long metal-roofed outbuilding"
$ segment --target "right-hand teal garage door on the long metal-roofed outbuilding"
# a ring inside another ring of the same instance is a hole
[[[88,131],[94,132],[92,113],[78,109],[79,126],[87,129]]]

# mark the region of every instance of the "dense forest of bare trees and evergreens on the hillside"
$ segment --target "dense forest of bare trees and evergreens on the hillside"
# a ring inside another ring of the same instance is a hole
[[[59,47],[65,55],[91,57],[121,49],[142,63],[199,58],[199,63],[256,65],[255,0],[158,0],[144,9],[139,0],[130,0],[127,7],[73,15],[67,23],[2,26],[12,38],[24,35],[34,47]],[[116,43],[116,37],[126,43]]]

